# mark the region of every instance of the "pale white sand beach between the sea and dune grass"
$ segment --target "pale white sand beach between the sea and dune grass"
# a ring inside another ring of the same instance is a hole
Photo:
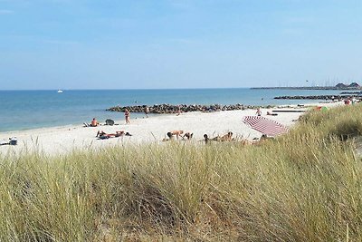
[[[338,105],[340,102],[317,104],[323,106]],[[303,112],[296,110],[307,110],[308,107],[284,107],[262,109],[262,116],[273,121],[291,127]],[[291,112],[277,112],[277,116],[267,116],[267,111],[293,110]],[[83,127],[63,126],[44,128],[29,131],[11,131],[0,133],[0,142],[5,142],[9,137],[16,137],[16,146],[0,146],[0,154],[23,153],[26,150],[37,150],[50,155],[57,155],[71,150],[97,149],[111,145],[140,144],[147,142],[161,142],[166,138],[167,131],[190,131],[194,133],[194,141],[202,140],[206,133],[209,137],[224,135],[233,131],[233,137],[247,140],[260,138],[261,133],[252,130],[243,123],[243,116],[255,115],[255,110],[243,111],[216,111],[216,112],[186,112],[179,116],[175,114],[152,116],[150,118],[132,119],[131,123],[125,124],[124,120],[116,121],[119,125]],[[121,116],[121,115],[119,115]],[[114,133],[116,131],[128,131],[132,136],[122,136],[100,140],[96,138],[97,131]]]

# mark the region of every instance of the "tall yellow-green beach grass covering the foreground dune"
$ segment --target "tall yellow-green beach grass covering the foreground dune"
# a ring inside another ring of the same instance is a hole
[[[0,157],[0,241],[360,241],[362,105],[257,145]]]

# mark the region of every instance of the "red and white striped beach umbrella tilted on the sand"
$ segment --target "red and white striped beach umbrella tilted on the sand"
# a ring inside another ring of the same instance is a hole
[[[262,116],[245,116],[243,122],[255,131],[260,131],[268,136],[276,136],[288,132],[288,129],[277,121],[271,121]]]

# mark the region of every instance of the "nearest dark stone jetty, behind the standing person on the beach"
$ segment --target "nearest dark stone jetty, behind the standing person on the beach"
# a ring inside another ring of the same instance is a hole
[[[131,112],[145,112],[146,105],[137,105],[137,106],[125,106],[125,107],[112,107],[107,109],[107,111],[125,111],[128,109]],[[232,111],[232,110],[245,110],[245,109],[253,109],[256,106],[251,105],[243,105],[240,103],[231,104],[231,105],[221,105],[221,104],[212,104],[212,105],[200,105],[200,104],[193,104],[193,105],[172,105],[172,104],[156,104],[153,106],[148,106],[148,110],[150,113],[177,113],[178,110],[181,112],[188,112],[188,111]],[[271,108],[272,106],[267,106]]]

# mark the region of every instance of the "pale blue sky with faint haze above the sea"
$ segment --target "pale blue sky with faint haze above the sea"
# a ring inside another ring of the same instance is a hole
[[[362,79],[360,0],[0,0],[0,90]]]

